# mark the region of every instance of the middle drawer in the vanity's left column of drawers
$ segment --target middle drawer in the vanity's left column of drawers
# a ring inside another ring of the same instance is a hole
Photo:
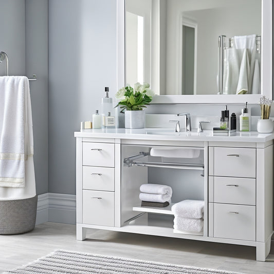
[[[114,168],[83,166],[83,189],[114,191]]]

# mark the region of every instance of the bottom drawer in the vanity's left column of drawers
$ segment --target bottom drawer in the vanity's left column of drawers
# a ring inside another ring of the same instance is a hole
[[[114,226],[114,192],[83,190],[83,223]]]

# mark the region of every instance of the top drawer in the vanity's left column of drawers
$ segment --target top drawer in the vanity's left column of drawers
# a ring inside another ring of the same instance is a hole
[[[114,143],[83,142],[83,166],[114,167]]]

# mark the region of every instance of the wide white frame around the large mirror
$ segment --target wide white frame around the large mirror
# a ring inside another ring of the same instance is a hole
[[[136,0],[138,1],[138,0]],[[262,94],[159,95],[151,104],[259,104],[262,95],[272,100],[272,0],[262,0]],[[125,0],[117,0],[117,90],[125,86]]]

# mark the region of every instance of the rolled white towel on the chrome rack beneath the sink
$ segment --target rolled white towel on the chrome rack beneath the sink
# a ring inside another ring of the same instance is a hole
[[[171,148],[152,148],[150,151],[151,156],[169,157],[169,158],[197,158],[200,155],[199,149],[171,149]]]

